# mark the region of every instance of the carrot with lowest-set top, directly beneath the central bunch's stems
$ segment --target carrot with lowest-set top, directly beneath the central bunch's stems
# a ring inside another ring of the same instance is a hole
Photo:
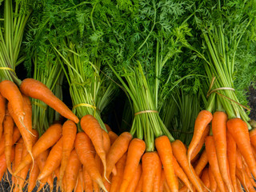
[[[142,156],[143,192],[151,192],[154,189],[154,175],[159,156],[156,152],[146,152]]]

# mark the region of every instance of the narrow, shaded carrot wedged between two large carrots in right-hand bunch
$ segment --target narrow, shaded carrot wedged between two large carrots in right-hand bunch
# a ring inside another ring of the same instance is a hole
[[[235,170],[236,170],[236,148],[237,145],[234,142],[234,138],[232,138],[229,131],[226,132],[226,156],[230,167],[230,179],[232,182],[232,185],[234,187],[234,191],[238,192],[238,186],[237,186],[237,179],[235,176]]]

